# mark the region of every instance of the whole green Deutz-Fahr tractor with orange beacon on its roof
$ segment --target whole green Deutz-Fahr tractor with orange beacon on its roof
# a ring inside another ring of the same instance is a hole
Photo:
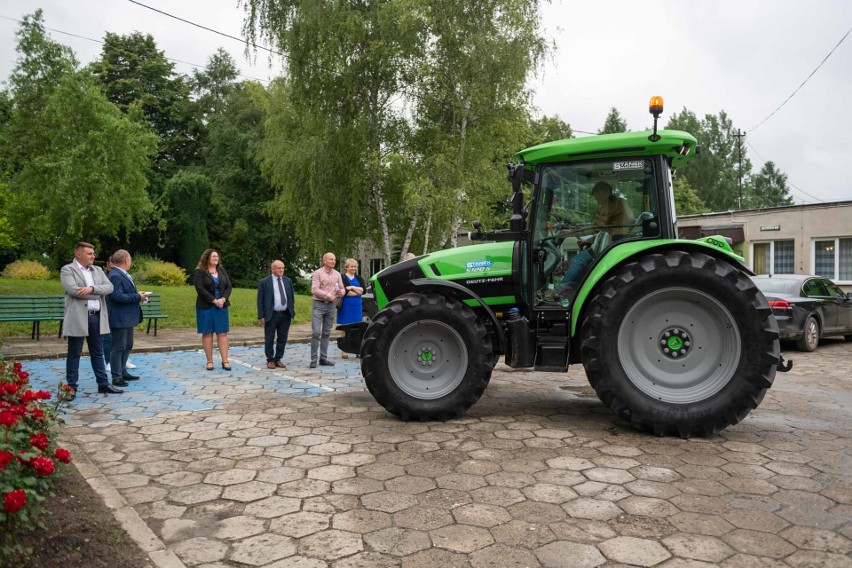
[[[499,357],[564,372],[656,435],[711,435],[763,399],[778,328],[724,237],[678,238],[672,171],[686,132],[559,140],[509,166],[512,216],[484,244],[403,261],[371,279],[378,312],[341,326],[367,388],[405,420],[447,420],[482,396]],[[524,204],[524,186],[532,186]],[[368,300],[369,301],[369,300]]]

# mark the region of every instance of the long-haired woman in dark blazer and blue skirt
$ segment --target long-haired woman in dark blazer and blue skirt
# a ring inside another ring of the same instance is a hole
[[[195,300],[195,318],[198,324],[198,333],[201,334],[201,345],[207,356],[207,370],[213,370],[213,334],[216,334],[216,342],[219,345],[219,354],[222,356],[222,368],[231,370],[228,362],[228,306],[231,305],[228,298],[231,295],[231,279],[222,267],[219,260],[219,252],[207,249],[202,253],[195,275],[192,278],[198,298]]]

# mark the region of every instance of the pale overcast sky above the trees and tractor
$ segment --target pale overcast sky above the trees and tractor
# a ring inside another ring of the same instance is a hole
[[[224,33],[240,36],[237,0],[140,0]],[[268,80],[279,60],[126,0],[0,0],[0,78],[15,64],[14,32],[36,8],[48,28],[100,40],[105,32],[150,33],[176,70],[203,66],[227,49],[245,78]],[[789,176],[797,203],[852,199],[852,37],[772,118],[774,111],[852,28],[849,0],[599,0],[554,1],[543,7],[554,49],[530,82],[541,114],[558,115],[579,131],[603,126],[616,107],[628,128],[650,127],[651,95],[665,99],[666,118],[684,107],[699,117],[724,110],[747,131],[749,157],[772,160]],[[81,63],[101,46],[56,31]],[[852,36],[852,34],[850,34]],[[582,135],[582,134],[578,134]],[[700,142],[700,141],[699,141]]]

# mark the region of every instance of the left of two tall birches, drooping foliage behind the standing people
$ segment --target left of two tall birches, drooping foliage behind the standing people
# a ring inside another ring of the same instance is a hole
[[[293,221],[311,253],[352,248],[375,227],[389,259],[385,168],[404,137],[398,101],[420,48],[412,5],[395,0],[245,5],[248,37],[267,37],[288,56],[287,80],[272,90],[276,110],[263,154],[264,171],[280,190],[275,207]]]

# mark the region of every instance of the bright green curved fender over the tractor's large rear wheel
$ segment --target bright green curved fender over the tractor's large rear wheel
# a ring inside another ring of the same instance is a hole
[[[586,300],[613,268],[620,266],[634,257],[647,253],[659,253],[667,250],[684,250],[688,252],[703,252],[708,256],[718,258],[733,264],[748,275],[754,273],[746,266],[745,259],[736,254],[724,237],[704,237],[699,240],[686,239],[654,239],[643,241],[630,241],[618,244],[607,251],[607,253],[592,267],[580,287],[571,310],[571,336],[577,334],[577,326],[583,318],[583,308]]]

